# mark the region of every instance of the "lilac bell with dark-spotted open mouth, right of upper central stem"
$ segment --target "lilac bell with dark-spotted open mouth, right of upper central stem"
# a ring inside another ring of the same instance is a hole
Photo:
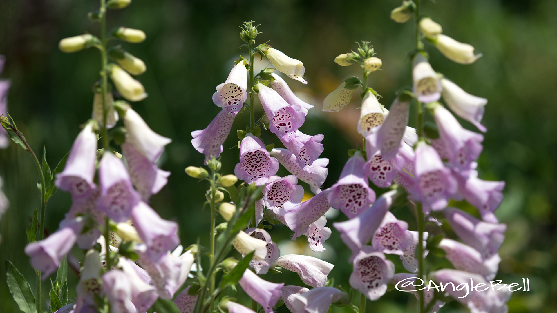
[[[283,141],[296,138],[296,130],[304,124],[306,115],[299,105],[290,105],[277,92],[263,84],[255,86],[267,118],[269,130]]]

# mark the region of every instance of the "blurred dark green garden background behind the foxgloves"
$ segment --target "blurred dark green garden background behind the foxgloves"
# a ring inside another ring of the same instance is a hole
[[[412,20],[400,25],[389,19],[390,10],[399,5],[398,0],[134,0],[126,9],[109,11],[109,29],[124,25],[147,34],[144,43],[123,44],[148,68],[138,79],[149,97],[133,107],[153,130],[173,139],[161,160],[162,168],[172,175],[150,204],[162,217],[180,223],[184,246],[198,237],[202,243],[208,241],[209,212],[202,210],[206,183],[198,184],[183,170],[202,164],[203,156],[190,144],[190,132],[205,128],[218,113],[220,109],[211,100],[214,87],[226,79],[239,53],[247,55],[245,48],[238,48],[243,43],[238,26],[246,20],[262,23],[257,43],[269,41],[304,62],[309,84],[287,82],[316,106],[301,130],[325,135],[322,157],[330,163],[324,187],[329,187],[348,159],[346,150],[361,140],[355,131],[357,97],[339,114],[320,111],[324,97],[342,80],[361,76],[357,66],[340,67],[334,57],[355,48],[354,41],[372,42],[383,60],[383,71],[370,75],[370,86],[383,95],[381,102],[389,107],[394,91],[411,83],[407,53],[413,49]],[[70,149],[79,125],[91,116],[91,86],[99,79],[100,68],[95,49],[65,54],[58,50],[58,41],[84,32],[98,34],[98,26],[86,18],[87,12],[97,8],[97,1],[91,0],[0,1],[0,54],[7,57],[2,78],[12,80],[9,113],[35,151],[46,146],[51,167]],[[488,129],[485,149],[478,163],[480,178],[507,182],[505,200],[497,211],[500,221],[508,224],[498,278],[520,282],[529,277],[531,282],[530,292],[514,292],[509,311],[557,312],[557,216],[553,210],[557,203],[557,2],[426,0],[421,12],[441,23],[446,35],[471,43],[483,53],[476,63],[465,66],[448,61],[426,45],[434,69],[471,94],[489,100],[483,119]],[[248,120],[247,114],[238,115],[233,129],[245,128]],[[271,135],[263,134],[265,143],[280,146]],[[224,174],[233,173],[237,163],[236,142],[231,134],[224,144]],[[279,174],[286,172],[281,168]],[[34,286],[35,276],[23,247],[32,211],[40,205],[37,173],[27,153],[12,143],[0,151],[0,175],[11,202],[0,222],[0,312],[19,312],[7,290],[3,260],[11,260]],[[57,229],[70,203],[67,193],[57,192],[52,197],[45,223],[48,232]],[[407,208],[395,214],[412,218]],[[343,214],[330,217],[328,226],[343,219]],[[412,220],[410,227],[414,227]],[[290,231],[285,226],[276,226],[270,233],[281,243],[282,254],[286,250],[301,253],[303,247],[307,250],[305,237],[287,243]],[[327,243],[328,250],[321,256],[336,265],[330,276],[348,288],[348,248],[335,230]],[[81,251],[74,254],[82,257]],[[398,257],[392,260],[402,271]],[[301,284],[291,272],[264,277],[287,285]],[[70,296],[75,296],[75,273],[69,272],[69,280]],[[47,283],[43,286],[47,290]],[[241,291],[237,296],[248,303]],[[412,295],[388,292],[379,301],[368,301],[367,312],[414,312],[415,304]],[[287,310],[283,306],[278,311]],[[443,311],[467,310],[453,302]]]

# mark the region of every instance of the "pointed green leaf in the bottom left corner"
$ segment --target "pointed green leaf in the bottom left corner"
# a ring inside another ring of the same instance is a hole
[[[31,292],[31,286],[25,277],[13,266],[12,262],[6,260],[6,283],[9,293],[16,301],[19,309],[25,313],[37,313],[35,306],[35,296]]]

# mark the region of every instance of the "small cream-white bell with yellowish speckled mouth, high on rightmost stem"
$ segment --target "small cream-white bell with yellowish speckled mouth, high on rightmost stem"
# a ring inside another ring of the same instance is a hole
[[[429,103],[441,97],[441,81],[429,62],[421,53],[412,62],[413,92],[420,102]]]

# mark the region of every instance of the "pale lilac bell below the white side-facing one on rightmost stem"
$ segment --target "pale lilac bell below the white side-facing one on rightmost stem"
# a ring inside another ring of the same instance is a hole
[[[470,168],[470,164],[480,156],[483,150],[483,135],[463,128],[447,109],[436,104],[433,118],[437,124],[439,137],[449,151],[449,160],[460,170]]]

